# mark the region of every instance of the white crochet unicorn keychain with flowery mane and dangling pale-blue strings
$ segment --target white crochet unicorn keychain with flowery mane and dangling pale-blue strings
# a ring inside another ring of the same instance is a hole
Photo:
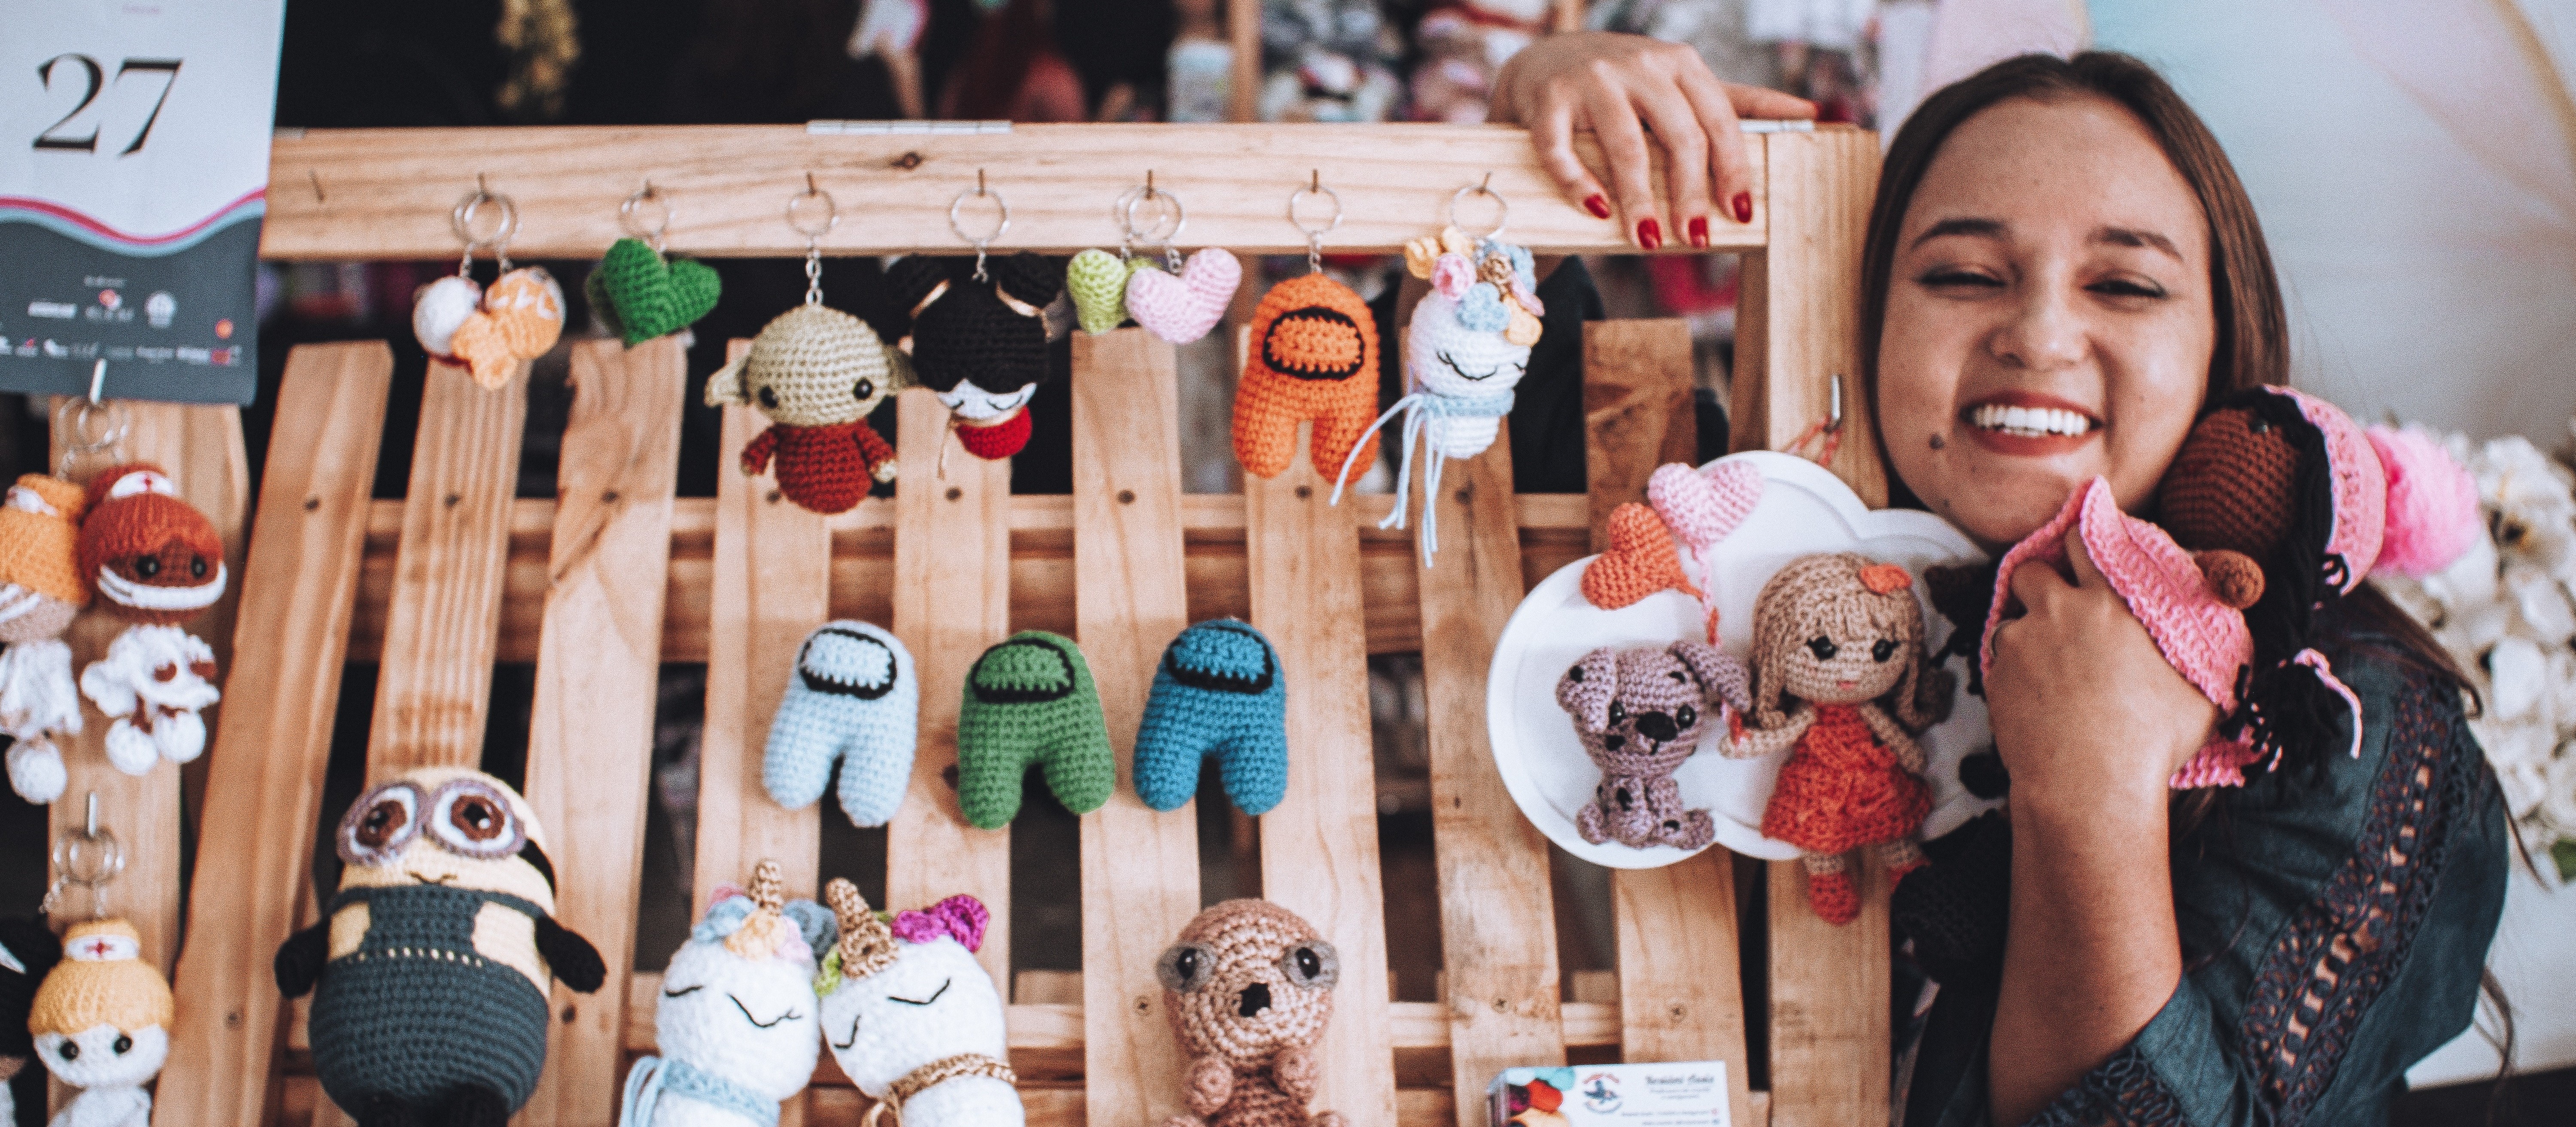
[[[1489,196],[1502,208],[1494,229],[1468,237],[1455,226],[1458,201]],[[1396,458],[1396,507],[1378,527],[1404,527],[1412,502],[1414,448],[1422,445],[1425,497],[1440,494],[1440,466],[1450,458],[1476,458],[1512,414],[1512,389],[1530,371],[1530,345],[1538,345],[1538,275],[1525,247],[1499,242],[1510,203],[1486,185],[1461,188],[1450,198],[1450,226],[1437,237],[1404,244],[1404,268],[1432,283],[1414,306],[1404,342],[1406,394],[1388,407],[1373,435],[1404,414],[1404,453]],[[1427,440],[1427,443],[1425,443]],[[1332,502],[1358,466],[1358,450],[1342,461]],[[1440,507],[1422,504],[1422,566],[1440,551]]]

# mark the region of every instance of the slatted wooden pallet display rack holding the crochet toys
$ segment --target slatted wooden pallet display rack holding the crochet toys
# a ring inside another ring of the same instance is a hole
[[[1734,443],[1788,445],[1857,373],[1857,244],[1878,175],[1875,136],[1757,134],[1752,224],[1716,221],[1744,252]],[[592,257],[639,183],[677,201],[688,255],[804,252],[781,208],[811,175],[840,201],[829,255],[961,252],[945,211],[976,172],[1007,193],[994,250],[1115,244],[1108,201],[1157,170],[1190,206],[1185,244],[1301,252],[1288,193],[1340,193],[1332,252],[1391,252],[1440,226],[1458,188],[1510,198],[1517,242],[1540,255],[1628,252],[1610,221],[1558,201],[1522,131],[1502,126],[1023,126],[992,134],[822,129],[412,129],[281,136],[263,252],[281,260],[451,257],[448,211],[477,178],[518,203],[518,257]],[[742,342],[734,345],[744,347]],[[1857,924],[1826,926],[1772,865],[1770,1011],[1736,978],[1736,888],[1721,849],[1615,875],[1618,996],[1558,985],[1546,839],[1512,808],[1484,736],[1494,638],[1530,582],[1638,499],[1646,473],[1687,461],[1690,342],[1680,322],[1602,322],[1584,337],[1589,499],[1512,491],[1510,445],[1450,468],[1430,571],[1409,533],[1378,533],[1386,497],[1327,507],[1306,458],[1242,497],[1180,491],[1172,347],[1121,329],[1077,337],[1074,491],[1010,497],[1007,463],[938,450],[945,412],[902,394],[902,489],[819,517],[768,479],[732,471],[762,417],[724,414],[714,502],[675,499],[685,358],[572,345],[572,419],[554,499],[515,499],[526,373],[497,394],[435,365],[410,486],[371,502],[392,386],[381,342],[301,345],[278,391],[258,509],[232,409],[139,407],[129,455],[170,463],[234,543],[237,625],[204,787],[204,834],[180,942],[178,769],[126,780],[95,746],[67,754],[70,795],[98,790],[134,852],[116,908],[144,949],[175,957],[178,1024],[160,1078],[162,1124],[345,1122],[301,1060],[299,1006],[270,955],[314,919],[309,888],[322,774],[345,661],[381,661],[368,780],[415,764],[477,764],[492,664],[536,661],[526,793],[564,875],[559,916],[598,942],[611,985],[556,993],[528,1124],[616,1122],[623,1065],[652,1050],[654,975],[629,975],[652,756],[654,674],[706,661],[706,733],[693,903],[775,857],[814,888],[819,805],[760,790],[760,746],[806,630],[832,615],[889,623],[922,677],[912,793],[889,831],[894,906],[974,893],[994,911],[981,952],[1010,967],[1010,836],[969,829],[943,769],[956,759],[958,684],[974,656],[1028,625],[1079,638],[1110,733],[1136,731],[1154,661],[1190,620],[1234,612],[1280,651],[1291,684],[1288,798],[1260,818],[1260,888],[1342,952],[1319,1109],[1355,1127],[1484,1122],[1504,1065],[1728,1060],[1739,1124],[1880,1122],[1888,1101],[1886,877],[1868,872]],[[1834,471],[1873,504],[1886,486],[1862,396]],[[242,522],[247,558],[242,558]],[[229,612],[229,607],[227,607]],[[111,630],[82,625],[82,659]],[[1370,782],[1365,656],[1422,651],[1440,880],[1440,1003],[1394,1003]],[[93,728],[95,733],[95,728]],[[57,805],[57,823],[80,803]],[[1128,787],[1082,818],[1079,996],[1010,1006],[1010,1045],[1036,1081],[1030,1122],[1159,1124],[1180,1065],[1154,955],[1198,911],[1198,821],[1154,813]],[[1747,1022],[1770,1024],[1770,1091],[1747,1091]],[[1399,1068],[1399,1060],[1404,1068]],[[1399,1070],[1417,1086],[1399,1086]],[[1445,1078],[1445,1081],[1437,1081]],[[1430,1081],[1430,1083],[1427,1083]],[[824,1058],[788,1124],[850,1124],[866,1099]]]

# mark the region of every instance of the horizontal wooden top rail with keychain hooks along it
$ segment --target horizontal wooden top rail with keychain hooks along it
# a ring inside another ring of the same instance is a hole
[[[840,131],[811,126],[551,126],[551,129],[314,129],[281,131],[268,157],[268,219],[260,255],[276,260],[453,257],[451,216],[477,178],[518,208],[513,257],[598,257],[618,234],[618,206],[652,183],[670,203],[670,250],[701,257],[791,257],[806,237],[788,226],[791,196],[832,193],[840,224],[829,255],[961,255],[948,206],[984,185],[1010,203],[1010,229],[992,250],[1074,252],[1115,247],[1121,193],[1170,190],[1188,208],[1182,247],[1247,255],[1303,252],[1288,196],[1321,183],[1342,198],[1327,252],[1391,252],[1437,232],[1461,188],[1492,185],[1510,203],[1507,237],[1538,255],[1636,252],[1613,219],[1566,203],[1515,126],[1007,126],[1005,131]],[[914,124],[920,126],[920,124]],[[956,124],[951,124],[956,126]],[[1821,126],[1824,131],[1844,126]],[[1767,242],[1767,149],[1749,134],[1754,219],[1710,216],[1713,250]],[[1579,149],[1592,167],[1589,136]],[[1489,180],[1492,178],[1492,180]],[[1656,175],[1662,185],[1662,175]],[[799,208],[819,219],[819,206]],[[1466,198],[1458,219],[1492,226],[1492,201]],[[1329,196],[1298,201],[1321,226]],[[644,206],[644,226],[657,211]],[[969,201],[966,232],[994,211]],[[1149,214],[1139,214],[1149,219]],[[814,224],[819,226],[819,224]],[[1682,239],[1669,244],[1690,252]],[[484,250],[489,255],[489,250]]]

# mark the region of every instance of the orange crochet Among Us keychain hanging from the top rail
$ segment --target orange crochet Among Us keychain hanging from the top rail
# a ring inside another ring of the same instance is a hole
[[[1314,422],[1316,473],[1368,466],[1378,440],[1378,322],[1350,286],[1321,273],[1288,278],[1252,309],[1252,355],[1234,389],[1234,458],[1275,479],[1296,458],[1296,425]]]

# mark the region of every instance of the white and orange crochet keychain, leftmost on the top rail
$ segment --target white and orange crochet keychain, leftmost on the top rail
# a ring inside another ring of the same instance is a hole
[[[500,226],[477,234],[477,214],[500,208]],[[518,232],[518,203],[492,196],[482,178],[474,193],[448,216],[456,239],[466,244],[456,273],[420,288],[412,298],[412,334],[433,358],[461,363],[474,383],[500,391],[520,360],[536,360],[564,334],[564,288],[541,265],[510,268],[510,234]],[[495,247],[500,278],[492,288],[474,286],[474,247]]]

